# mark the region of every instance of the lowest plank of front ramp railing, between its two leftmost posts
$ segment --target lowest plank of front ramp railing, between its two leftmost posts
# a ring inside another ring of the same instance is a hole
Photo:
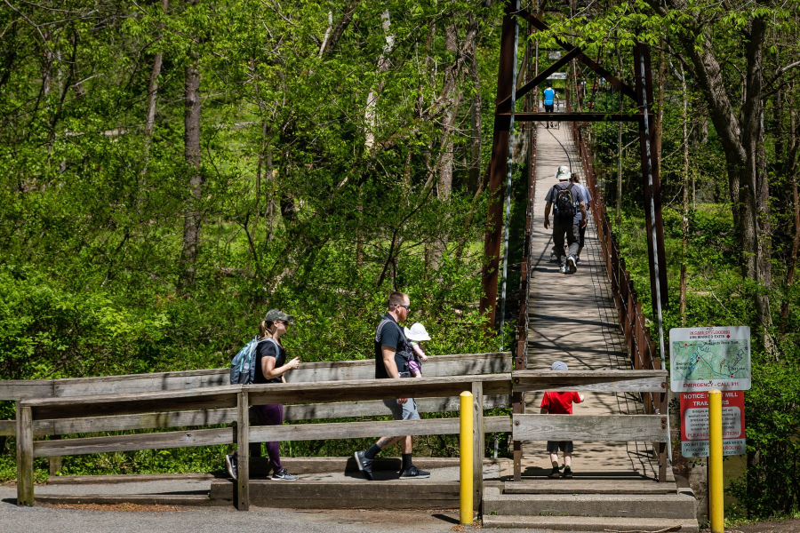
[[[168,449],[188,446],[213,446],[236,442],[236,428],[198,429],[156,434],[114,435],[85,439],[34,442],[34,457],[85,455],[136,449]]]

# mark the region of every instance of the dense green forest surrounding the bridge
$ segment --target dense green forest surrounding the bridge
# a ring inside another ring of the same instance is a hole
[[[632,44],[652,47],[665,326],[751,326],[732,491],[750,516],[797,513],[798,3],[522,4],[552,29],[520,32],[521,67],[560,37],[632,85]],[[223,367],[270,307],[303,360],[370,357],[392,290],[433,353],[511,346],[478,312],[504,6],[5,0],[0,378]],[[576,106],[631,110],[571,69]],[[585,128],[647,306],[638,132]],[[142,457],[166,461],[74,468]]]

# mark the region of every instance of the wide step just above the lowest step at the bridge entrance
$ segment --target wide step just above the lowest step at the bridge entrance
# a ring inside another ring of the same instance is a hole
[[[484,515],[620,516],[692,520],[687,494],[500,494],[484,489]]]

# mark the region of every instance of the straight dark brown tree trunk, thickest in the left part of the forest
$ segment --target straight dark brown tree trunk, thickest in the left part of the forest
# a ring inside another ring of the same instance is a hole
[[[188,4],[196,5],[197,1],[188,0]],[[189,198],[186,218],[183,223],[184,272],[182,284],[184,286],[193,286],[195,283],[201,226],[199,203],[203,187],[203,175],[200,172],[200,53],[195,49],[189,54],[184,85],[183,142],[184,157],[192,172],[188,183]]]

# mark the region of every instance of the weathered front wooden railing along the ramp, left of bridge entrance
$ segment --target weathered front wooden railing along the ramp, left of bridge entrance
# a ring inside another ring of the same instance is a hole
[[[503,357],[503,359],[507,359]],[[236,505],[249,507],[249,444],[269,441],[303,441],[380,437],[420,434],[458,434],[458,418],[427,418],[412,421],[335,422],[286,426],[250,426],[249,407],[267,403],[306,402],[316,405],[337,405],[338,417],[352,417],[354,412],[386,415],[380,400],[414,397],[438,400],[437,410],[448,406],[465,390],[475,396],[473,412],[475,468],[475,498],[483,494],[484,432],[508,432],[508,417],[484,418],[484,399],[505,398],[511,392],[508,373],[445,378],[420,379],[356,379],[318,383],[287,383],[253,386],[216,386],[193,391],[156,393],[105,394],[22,400],[17,406],[17,504],[33,505],[33,460],[54,455],[82,455],[128,451],[135,449],[165,449],[188,446],[207,446],[236,443],[239,454],[239,475],[236,483]],[[348,402],[348,403],[345,403]],[[369,409],[366,402],[372,402]],[[423,403],[420,401],[420,403]],[[380,404],[380,410],[377,410]],[[36,424],[67,428],[91,428],[93,432],[112,431],[124,426],[129,429],[186,426],[188,415],[196,426],[211,426],[228,420],[220,413],[235,410],[236,427],[195,429],[150,434],[126,434],[71,438],[58,441],[34,441]],[[324,418],[329,418],[326,410]],[[140,418],[136,427],[133,421]],[[308,412],[309,418],[316,414]]]

